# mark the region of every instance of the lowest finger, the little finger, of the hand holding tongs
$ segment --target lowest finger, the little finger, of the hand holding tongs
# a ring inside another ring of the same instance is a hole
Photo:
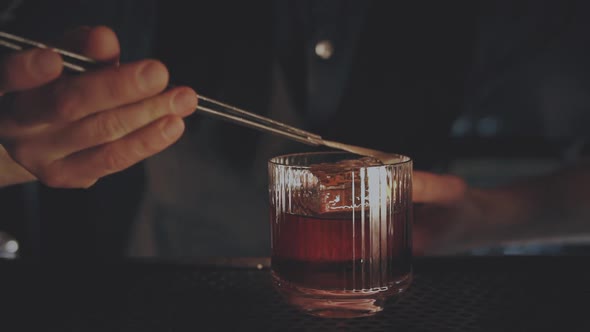
[[[100,177],[162,151],[178,140],[183,131],[180,117],[165,116],[117,141],[57,161],[43,181],[53,187],[89,187]]]

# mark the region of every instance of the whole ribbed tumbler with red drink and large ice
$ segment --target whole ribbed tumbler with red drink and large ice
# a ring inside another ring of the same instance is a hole
[[[271,270],[289,302],[320,316],[370,315],[410,284],[410,158],[292,154],[268,171]]]

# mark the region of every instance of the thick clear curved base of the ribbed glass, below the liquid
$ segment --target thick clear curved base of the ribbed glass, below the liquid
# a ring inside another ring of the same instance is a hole
[[[370,290],[321,290],[299,287],[272,273],[275,289],[285,301],[312,316],[356,318],[373,316],[384,309],[385,300],[404,292],[412,273],[400,277],[389,287]]]

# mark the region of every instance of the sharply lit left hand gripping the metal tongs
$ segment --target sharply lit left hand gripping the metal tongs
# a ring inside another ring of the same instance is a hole
[[[99,61],[119,56],[106,27],[69,34],[71,50]],[[184,131],[196,93],[164,91],[166,67],[155,60],[62,75],[48,50],[13,53],[0,62],[0,186],[38,179],[51,187],[87,188],[165,149]],[[2,149],[0,149],[2,150]],[[3,151],[0,151],[3,152]],[[10,157],[10,158],[8,158]]]

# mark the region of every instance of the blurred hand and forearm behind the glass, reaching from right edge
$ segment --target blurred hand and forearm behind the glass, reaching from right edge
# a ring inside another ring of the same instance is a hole
[[[429,176],[429,192],[439,190],[439,194],[426,201],[430,204],[421,204],[432,194],[415,191],[417,253],[456,253],[515,241],[590,234],[589,160],[493,189],[464,186],[461,190],[457,189],[460,179],[448,177],[445,182],[444,176]],[[451,188],[446,195],[444,187]]]

